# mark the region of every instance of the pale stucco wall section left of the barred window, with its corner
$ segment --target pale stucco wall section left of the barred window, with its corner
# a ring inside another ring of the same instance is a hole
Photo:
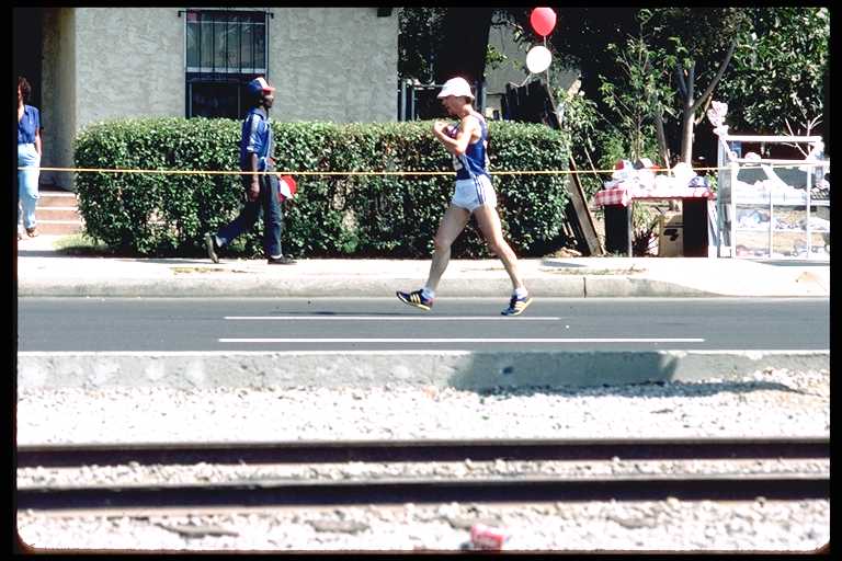
[[[47,9],[44,18],[44,167],[71,168],[86,125],[184,115],[184,20],[178,10]],[[43,181],[72,190],[72,174]]]

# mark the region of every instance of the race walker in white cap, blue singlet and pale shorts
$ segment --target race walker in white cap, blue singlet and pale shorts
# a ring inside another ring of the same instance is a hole
[[[500,257],[512,279],[512,297],[503,316],[519,316],[532,304],[517,268],[517,257],[503,239],[500,216],[497,214],[497,195],[488,172],[488,124],[474,111],[474,94],[464,78],[447,80],[439,93],[448,114],[459,118],[458,125],[433,123],[435,138],[453,156],[456,170],[456,190],[435,234],[433,261],[423,288],[412,293],[397,291],[400,301],[430,310],[435,298],[439,280],[451,260],[451,245],[467,226],[470,215],[477,219],[489,250]]]

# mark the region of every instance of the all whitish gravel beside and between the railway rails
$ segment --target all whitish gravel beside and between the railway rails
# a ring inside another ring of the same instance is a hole
[[[488,392],[388,385],[371,389],[38,389],[19,391],[16,415],[19,444],[818,436],[830,431],[830,373],[766,369],[741,380]],[[439,470],[442,477],[466,477],[475,470],[497,474],[573,470],[569,472],[584,476],[828,470],[828,462],[812,460],[795,465],[783,460],[731,462],[727,467],[710,460],[591,462],[590,467],[583,462],[536,463],[455,462],[426,469],[433,474]],[[113,480],[110,478],[177,482],[255,477],[254,470],[266,469],[273,468],[128,466],[84,473],[29,468],[19,470],[18,478],[19,484],[65,481],[61,478],[76,484]],[[275,469],[286,470],[284,477],[350,478],[371,474],[373,468]],[[388,473],[396,468],[379,469]],[[201,516],[18,513],[19,535],[25,543],[106,550],[454,550],[468,540],[474,522],[510,533],[507,549],[803,551],[828,541],[830,503],[671,499]]]

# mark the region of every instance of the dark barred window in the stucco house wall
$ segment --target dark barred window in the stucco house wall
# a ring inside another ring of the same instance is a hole
[[[185,79],[187,117],[241,118],[246,84],[266,76],[268,13],[187,10]]]

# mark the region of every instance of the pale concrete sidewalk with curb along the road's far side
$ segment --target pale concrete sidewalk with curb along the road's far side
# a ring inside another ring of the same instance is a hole
[[[18,242],[19,296],[389,297],[419,288],[430,260],[124,259],[69,256],[60,236]],[[520,261],[536,297],[828,297],[830,263],[702,257],[545,257]],[[439,297],[505,297],[498,260],[451,261]]]

